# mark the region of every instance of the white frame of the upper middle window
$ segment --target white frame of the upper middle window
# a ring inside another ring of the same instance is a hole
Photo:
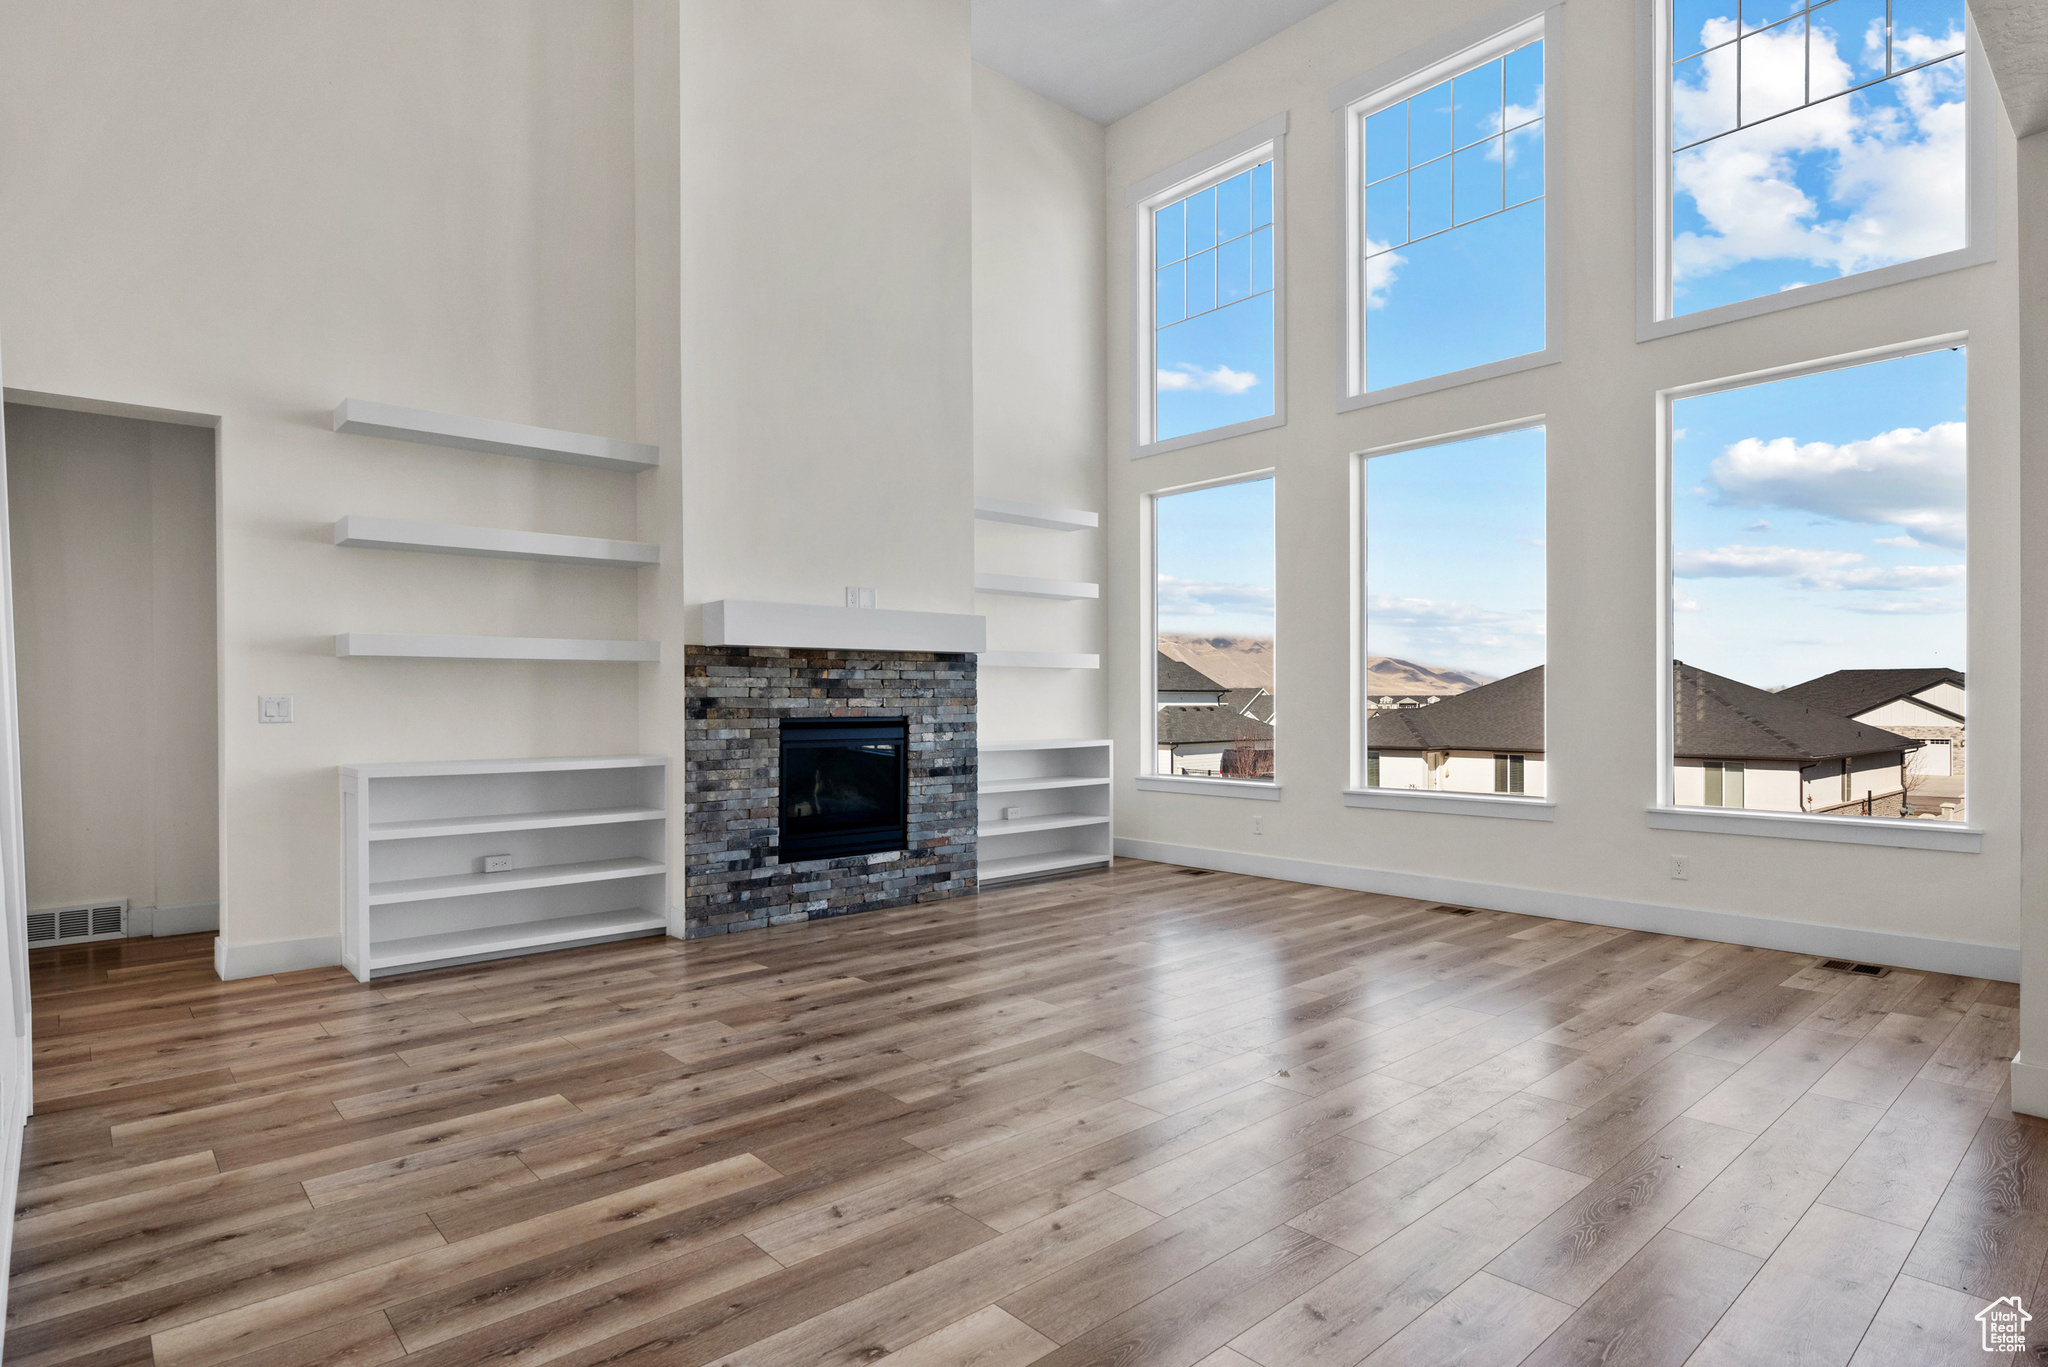
[[[1556,0],[1516,0],[1485,18],[1464,25],[1454,33],[1423,43],[1403,57],[1395,57],[1372,68],[1364,76],[1354,76],[1329,92],[1329,107],[1337,115],[1337,262],[1343,299],[1337,307],[1337,412],[1391,404],[1413,393],[1432,393],[1454,385],[1468,385],[1495,375],[1532,371],[1540,365],[1563,361],[1559,348],[1556,301],[1561,297],[1563,271],[1556,250],[1556,217],[1550,201],[1556,187],[1556,137],[1552,129],[1559,115],[1563,82],[1559,80],[1559,31],[1563,29],[1563,6]],[[1364,217],[1366,217],[1366,119],[1397,105],[1411,94],[1427,90],[1440,80],[1458,72],[1493,61],[1495,57],[1542,39],[1542,219],[1544,219],[1544,309],[1542,350],[1530,350],[1503,361],[1468,365],[1462,371],[1448,371],[1427,379],[1411,379],[1386,389],[1366,389],[1366,258],[1364,258]]]

